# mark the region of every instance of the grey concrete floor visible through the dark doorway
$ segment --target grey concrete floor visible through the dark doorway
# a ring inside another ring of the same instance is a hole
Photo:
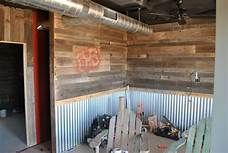
[[[15,113],[0,118],[0,153],[15,153],[26,148],[25,118]]]

